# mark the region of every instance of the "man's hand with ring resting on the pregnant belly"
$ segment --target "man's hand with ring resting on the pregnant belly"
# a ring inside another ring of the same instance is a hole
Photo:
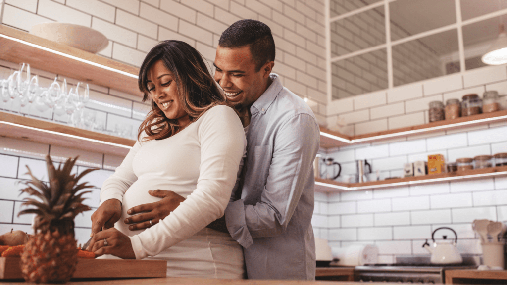
[[[125,219],[125,224],[132,224],[128,227],[131,231],[147,229],[157,224],[159,220],[169,216],[179,206],[179,203],[185,201],[185,198],[173,191],[158,189],[150,190],[148,193],[153,197],[162,198],[162,200],[130,208],[127,213],[133,216]]]

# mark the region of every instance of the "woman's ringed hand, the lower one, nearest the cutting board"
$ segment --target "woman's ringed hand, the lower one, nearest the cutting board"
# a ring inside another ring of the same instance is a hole
[[[86,250],[97,257],[108,254],[123,259],[135,259],[130,238],[115,228],[95,233]]]

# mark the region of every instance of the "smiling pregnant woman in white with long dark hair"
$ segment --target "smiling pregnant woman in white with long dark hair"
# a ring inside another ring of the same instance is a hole
[[[164,41],[148,53],[139,88],[152,110],[100,190],[88,250],[167,260],[168,276],[242,278],[241,246],[229,233],[206,228],[224,215],[235,189],[246,148],[239,117],[200,54],[184,42]],[[157,189],[187,199],[150,228],[128,230],[127,209],[160,200],[148,194]]]

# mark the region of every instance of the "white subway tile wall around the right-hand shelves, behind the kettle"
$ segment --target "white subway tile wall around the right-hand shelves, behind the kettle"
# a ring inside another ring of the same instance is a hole
[[[328,104],[328,123],[344,118],[347,134],[393,129],[427,123],[427,103],[459,98],[468,93],[482,97],[486,90],[497,90],[503,100],[507,93],[505,65],[488,66],[465,72],[395,87],[372,99],[372,93],[334,100]],[[387,102],[385,95],[387,93]],[[372,101],[377,102],[371,104]],[[504,101],[502,101],[504,103]],[[404,112],[400,116],[400,104]],[[359,106],[359,108],[358,108]],[[369,114],[359,121],[357,112]],[[370,111],[366,113],[366,111]],[[381,111],[381,112],[378,112]],[[387,120],[384,126],[381,120]],[[355,131],[355,133],[354,133]],[[355,160],[367,159],[380,177],[402,175],[403,163],[427,161],[431,154],[443,154],[452,162],[461,157],[507,152],[507,122],[463,129],[444,130],[420,136],[402,137],[373,144],[321,150],[342,165],[337,181],[354,175]],[[399,255],[429,255],[421,247],[439,227],[451,227],[458,234],[458,251],[481,255],[479,237],[472,230],[475,219],[507,222],[507,177],[453,181],[421,186],[393,187],[367,191],[328,194],[328,231],[316,225],[320,238],[331,246],[371,243],[379,247],[379,262],[395,262]],[[373,215],[373,226],[369,218]],[[322,235],[326,233],[327,236]],[[445,234],[445,233],[444,233]],[[438,235],[438,234],[437,234]]]

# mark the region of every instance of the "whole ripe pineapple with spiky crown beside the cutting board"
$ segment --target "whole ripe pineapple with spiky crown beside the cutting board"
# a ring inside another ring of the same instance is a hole
[[[51,157],[46,156],[49,185],[35,178],[28,166],[31,181],[25,182],[28,186],[21,189],[22,193],[39,198],[24,198],[23,205],[32,206],[19,212],[19,215],[34,213],[34,235],[25,244],[21,255],[21,272],[28,282],[37,283],[65,283],[74,274],[78,263],[78,248],[74,238],[74,218],[78,213],[90,210],[82,204],[85,191],[91,188],[78,181],[85,174],[95,169],[87,169],[80,175],[70,174],[76,160],[67,159],[63,168],[61,165],[55,169]]]

